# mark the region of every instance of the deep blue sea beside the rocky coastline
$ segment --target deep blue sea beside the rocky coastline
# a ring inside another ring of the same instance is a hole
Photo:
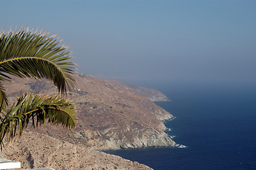
[[[172,102],[158,106],[176,118],[168,135],[187,148],[107,151],[152,169],[256,169],[256,89],[254,86],[152,86]]]

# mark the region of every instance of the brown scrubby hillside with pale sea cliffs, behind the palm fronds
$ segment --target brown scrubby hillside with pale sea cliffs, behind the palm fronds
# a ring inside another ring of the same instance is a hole
[[[10,101],[22,91],[56,94],[48,81],[15,79],[5,84]],[[60,126],[43,125],[35,131],[61,140],[93,147],[116,149],[134,147],[174,146],[165,134],[162,120],[173,116],[163,108],[113,81],[77,76],[77,89],[67,94],[77,109],[77,128],[65,130]],[[28,128],[28,131],[34,130]]]

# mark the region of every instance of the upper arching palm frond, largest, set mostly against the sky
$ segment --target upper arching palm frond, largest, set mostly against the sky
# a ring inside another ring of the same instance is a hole
[[[50,79],[65,94],[74,87],[74,64],[70,52],[55,36],[23,28],[0,33],[0,73],[16,77]]]

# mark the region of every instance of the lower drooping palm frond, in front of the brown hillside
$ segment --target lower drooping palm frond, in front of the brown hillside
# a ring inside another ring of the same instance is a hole
[[[21,136],[23,128],[31,122],[33,127],[42,125],[45,120],[50,123],[62,124],[67,128],[74,128],[77,121],[74,105],[58,96],[48,97],[33,94],[23,94],[16,104],[9,110],[1,111],[0,145],[4,147],[4,137],[8,141],[18,135]]]

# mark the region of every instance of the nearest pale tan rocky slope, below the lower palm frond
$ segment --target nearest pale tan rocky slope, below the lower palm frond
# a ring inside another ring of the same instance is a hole
[[[151,169],[138,162],[72,145],[37,132],[24,132],[21,139],[16,138],[9,147],[0,152],[0,157],[21,162],[22,169]]]

